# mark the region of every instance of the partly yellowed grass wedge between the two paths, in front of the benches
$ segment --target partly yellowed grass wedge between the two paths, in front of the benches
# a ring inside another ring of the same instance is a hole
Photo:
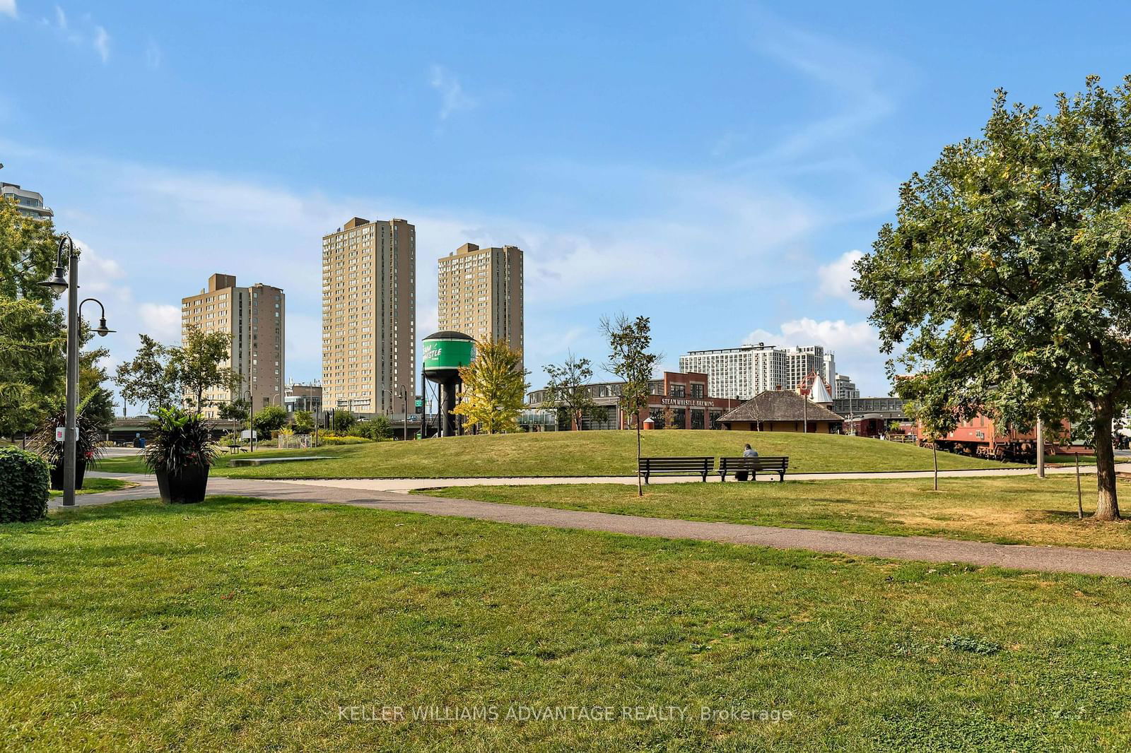
[[[1085,514],[1096,477],[1083,476]],[[1131,484],[1120,490],[1131,497]],[[1036,476],[757,484],[575,484],[452,486],[421,492],[485,502],[651,518],[818,528],[857,534],[943,536],[1000,544],[1131,548],[1131,522],[1077,519],[1076,478]]]

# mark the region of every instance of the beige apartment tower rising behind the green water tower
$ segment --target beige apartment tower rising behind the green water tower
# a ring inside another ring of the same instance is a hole
[[[440,330],[523,349],[523,250],[465,243],[440,259]]]

